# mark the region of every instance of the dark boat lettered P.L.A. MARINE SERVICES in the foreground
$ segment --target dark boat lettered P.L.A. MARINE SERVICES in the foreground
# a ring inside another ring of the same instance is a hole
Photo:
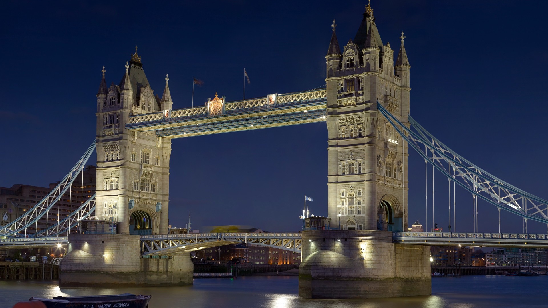
[[[39,308],[37,301],[43,303],[43,308],[147,308],[150,298],[151,295],[130,293],[97,296],[55,296],[53,299],[31,297],[29,301],[21,301],[15,304],[13,308]]]

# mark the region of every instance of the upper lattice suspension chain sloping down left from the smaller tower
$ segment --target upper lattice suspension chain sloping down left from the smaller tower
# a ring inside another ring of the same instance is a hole
[[[63,194],[72,186],[72,182],[76,179],[78,173],[83,170],[85,163],[87,163],[89,157],[94,151],[95,141],[93,141],[92,145],[88,147],[88,150],[85,151],[84,155],[79,159],[75,166],[72,167],[71,171],[65,176],[65,178],[62,179],[59,184],[57,184],[57,186],[55,186],[54,189],[48,193],[47,196],[28,210],[25,215],[20,216],[16,220],[12,221],[12,223],[2,227],[0,229],[0,236],[24,236],[24,232],[26,232],[28,227],[36,226],[38,219],[41,219],[46,213],[48,213],[48,211],[60,201]],[[82,207],[80,209],[82,209]],[[76,215],[71,216],[76,217]],[[57,226],[55,225],[55,231],[56,230]],[[48,233],[48,231],[41,233],[43,233],[42,236],[46,236],[45,234]],[[51,235],[52,233],[48,234]]]

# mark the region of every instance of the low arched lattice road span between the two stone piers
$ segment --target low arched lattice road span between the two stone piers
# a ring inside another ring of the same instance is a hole
[[[141,236],[142,255],[173,255],[227,244],[248,243],[297,251],[300,233],[188,233]]]

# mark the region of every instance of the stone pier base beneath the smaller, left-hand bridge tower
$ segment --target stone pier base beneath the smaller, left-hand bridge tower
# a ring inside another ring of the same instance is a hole
[[[137,235],[69,235],[59,286],[158,287],[192,284],[190,253],[140,258]]]

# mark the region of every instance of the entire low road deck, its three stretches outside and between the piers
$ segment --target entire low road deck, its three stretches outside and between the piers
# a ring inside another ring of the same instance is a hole
[[[141,255],[144,258],[248,243],[285,250],[300,250],[301,233],[187,233],[142,235]],[[393,232],[394,243],[427,246],[482,246],[548,248],[548,234],[535,233],[470,233],[470,232]],[[64,245],[66,236],[37,238],[3,238],[0,249],[34,248]]]

